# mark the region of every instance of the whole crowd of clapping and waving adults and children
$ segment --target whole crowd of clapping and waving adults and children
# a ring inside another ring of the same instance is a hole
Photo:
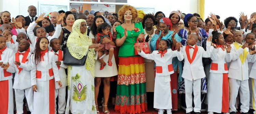
[[[256,12],[28,13],[0,12],[1,114],[256,113]]]

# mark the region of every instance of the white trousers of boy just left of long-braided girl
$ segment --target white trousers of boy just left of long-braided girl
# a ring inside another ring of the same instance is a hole
[[[14,89],[15,91],[15,103],[17,114],[23,114],[23,99],[26,97],[28,108],[31,114],[34,114],[33,110],[33,88],[29,87],[27,89]]]

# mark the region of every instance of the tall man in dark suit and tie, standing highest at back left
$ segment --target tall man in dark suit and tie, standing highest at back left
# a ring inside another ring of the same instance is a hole
[[[37,8],[35,6],[33,6],[33,5],[28,6],[28,14],[29,15],[27,17],[25,17],[25,20],[26,20],[25,26],[29,26],[29,24],[31,22],[37,20],[37,17],[36,17],[36,15],[37,15]],[[41,22],[39,22],[38,25],[40,27],[42,27],[42,23]]]

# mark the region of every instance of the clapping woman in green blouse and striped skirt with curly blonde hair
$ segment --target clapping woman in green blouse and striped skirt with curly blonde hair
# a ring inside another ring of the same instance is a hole
[[[118,19],[123,22],[116,27],[116,46],[119,49],[119,64],[115,111],[141,113],[147,110],[146,77],[144,59],[134,54],[137,38],[143,42],[144,30],[138,18],[137,10],[124,5],[118,12]]]

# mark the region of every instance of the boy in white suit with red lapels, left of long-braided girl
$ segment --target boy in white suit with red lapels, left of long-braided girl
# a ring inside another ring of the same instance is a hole
[[[28,58],[30,44],[28,40],[19,41],[18,52],[15,53],[14,68],[16,70],[13,88],[15,91],[16,113],[23,114],[23,99],[26,97],[28,108],[33,114],[33,89],[31,85],[30,68],[28,66]],[[13,65],[13,64],[11,64]]]

